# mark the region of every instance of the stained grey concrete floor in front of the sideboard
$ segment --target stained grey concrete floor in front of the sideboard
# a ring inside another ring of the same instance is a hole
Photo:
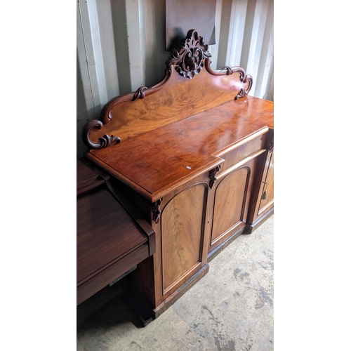
[[[77,351],[273,350],[273,220],[234,240],[145,328],[120,301],[95,313],[77,329]]]

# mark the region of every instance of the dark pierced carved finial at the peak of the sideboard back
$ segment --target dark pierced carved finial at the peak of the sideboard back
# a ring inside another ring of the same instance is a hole
[[[176,65],[176,70],[183,77],[192,78],[204,67],[204,59],[211,58],[208,45],[204,44],[204,39],[199,37],[195,29],[187,32],[186,39],[183,39],[182,46],[171,51],[171,58],[166,61],[166,65]]]

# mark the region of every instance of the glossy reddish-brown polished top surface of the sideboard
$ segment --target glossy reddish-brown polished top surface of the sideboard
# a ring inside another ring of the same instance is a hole
[[[86,157],[155,201],[223,162],[218,154],[273,128],[274,102],[247,96]]]

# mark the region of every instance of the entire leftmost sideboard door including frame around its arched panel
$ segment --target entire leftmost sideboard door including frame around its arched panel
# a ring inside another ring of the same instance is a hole
[[[152,220],[156,234],[152,256],[155,307],[175,298],[185,289],[185,283],[190,279],[196,282],[208,270],[207,201],[207,174],[159,201],[154,212],[159,213],[159,220]]]

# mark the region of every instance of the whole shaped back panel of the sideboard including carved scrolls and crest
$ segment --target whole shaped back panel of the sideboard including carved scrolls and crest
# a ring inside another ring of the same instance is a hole
[[[213,70],[210,58],[202,37],[190,30],[183,46],[167,60],[164,80],[107,102],[100,120],[84,126],[84,143],[91,149],[107,147],[249,93],[252,77],[244,69]]]

